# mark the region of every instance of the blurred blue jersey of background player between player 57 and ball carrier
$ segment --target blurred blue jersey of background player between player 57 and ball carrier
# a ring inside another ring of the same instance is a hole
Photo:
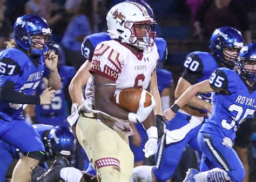
[[[72,66],[60,65],[58,72],[60,76],[60,88],[55,92],[55,97],[52,99],[51,105],[36,105],[36,120],[38,123],[51,125],[66,125],[63,123],[68,117],[68,103],[66,102],[66,88],[69,86],[70,79],[75,75],[75,68]],[[46,89],[43,82],[36,89],[36,94],[41,93]]]

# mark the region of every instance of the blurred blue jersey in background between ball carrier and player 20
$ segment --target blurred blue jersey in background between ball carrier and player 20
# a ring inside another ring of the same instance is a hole
[[[172,72],[165,69],[157,69],[157,85],[161,95],[164,89],[173,83]]]

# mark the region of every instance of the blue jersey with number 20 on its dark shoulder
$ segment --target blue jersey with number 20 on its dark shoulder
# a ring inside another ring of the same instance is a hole
[[[211,76],[212,71],[217,68],[219,68],[219,65],[211,53],[195,51],[187,55],[184,62],[184,72],[181,77],[193,85],[208,79]],[[212,102],[212,93],[199,94],[197,97],[206,102]]]

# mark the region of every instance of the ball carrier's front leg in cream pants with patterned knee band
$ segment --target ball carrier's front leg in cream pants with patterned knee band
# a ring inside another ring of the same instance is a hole
[[[98,123],[91,113],[79,117],[76,134],[92,166],[95,166],[99,181],[120,181],[120,161],[114,131]]]

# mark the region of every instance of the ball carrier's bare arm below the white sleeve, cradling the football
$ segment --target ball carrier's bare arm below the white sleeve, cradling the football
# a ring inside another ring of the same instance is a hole
[[[93,79],[96,110],[100,110],[119,119],[128,120],[129,112],[121,109],[112,102],[114,91],[116,90],[116,82],[98,74],[93,74]]]

